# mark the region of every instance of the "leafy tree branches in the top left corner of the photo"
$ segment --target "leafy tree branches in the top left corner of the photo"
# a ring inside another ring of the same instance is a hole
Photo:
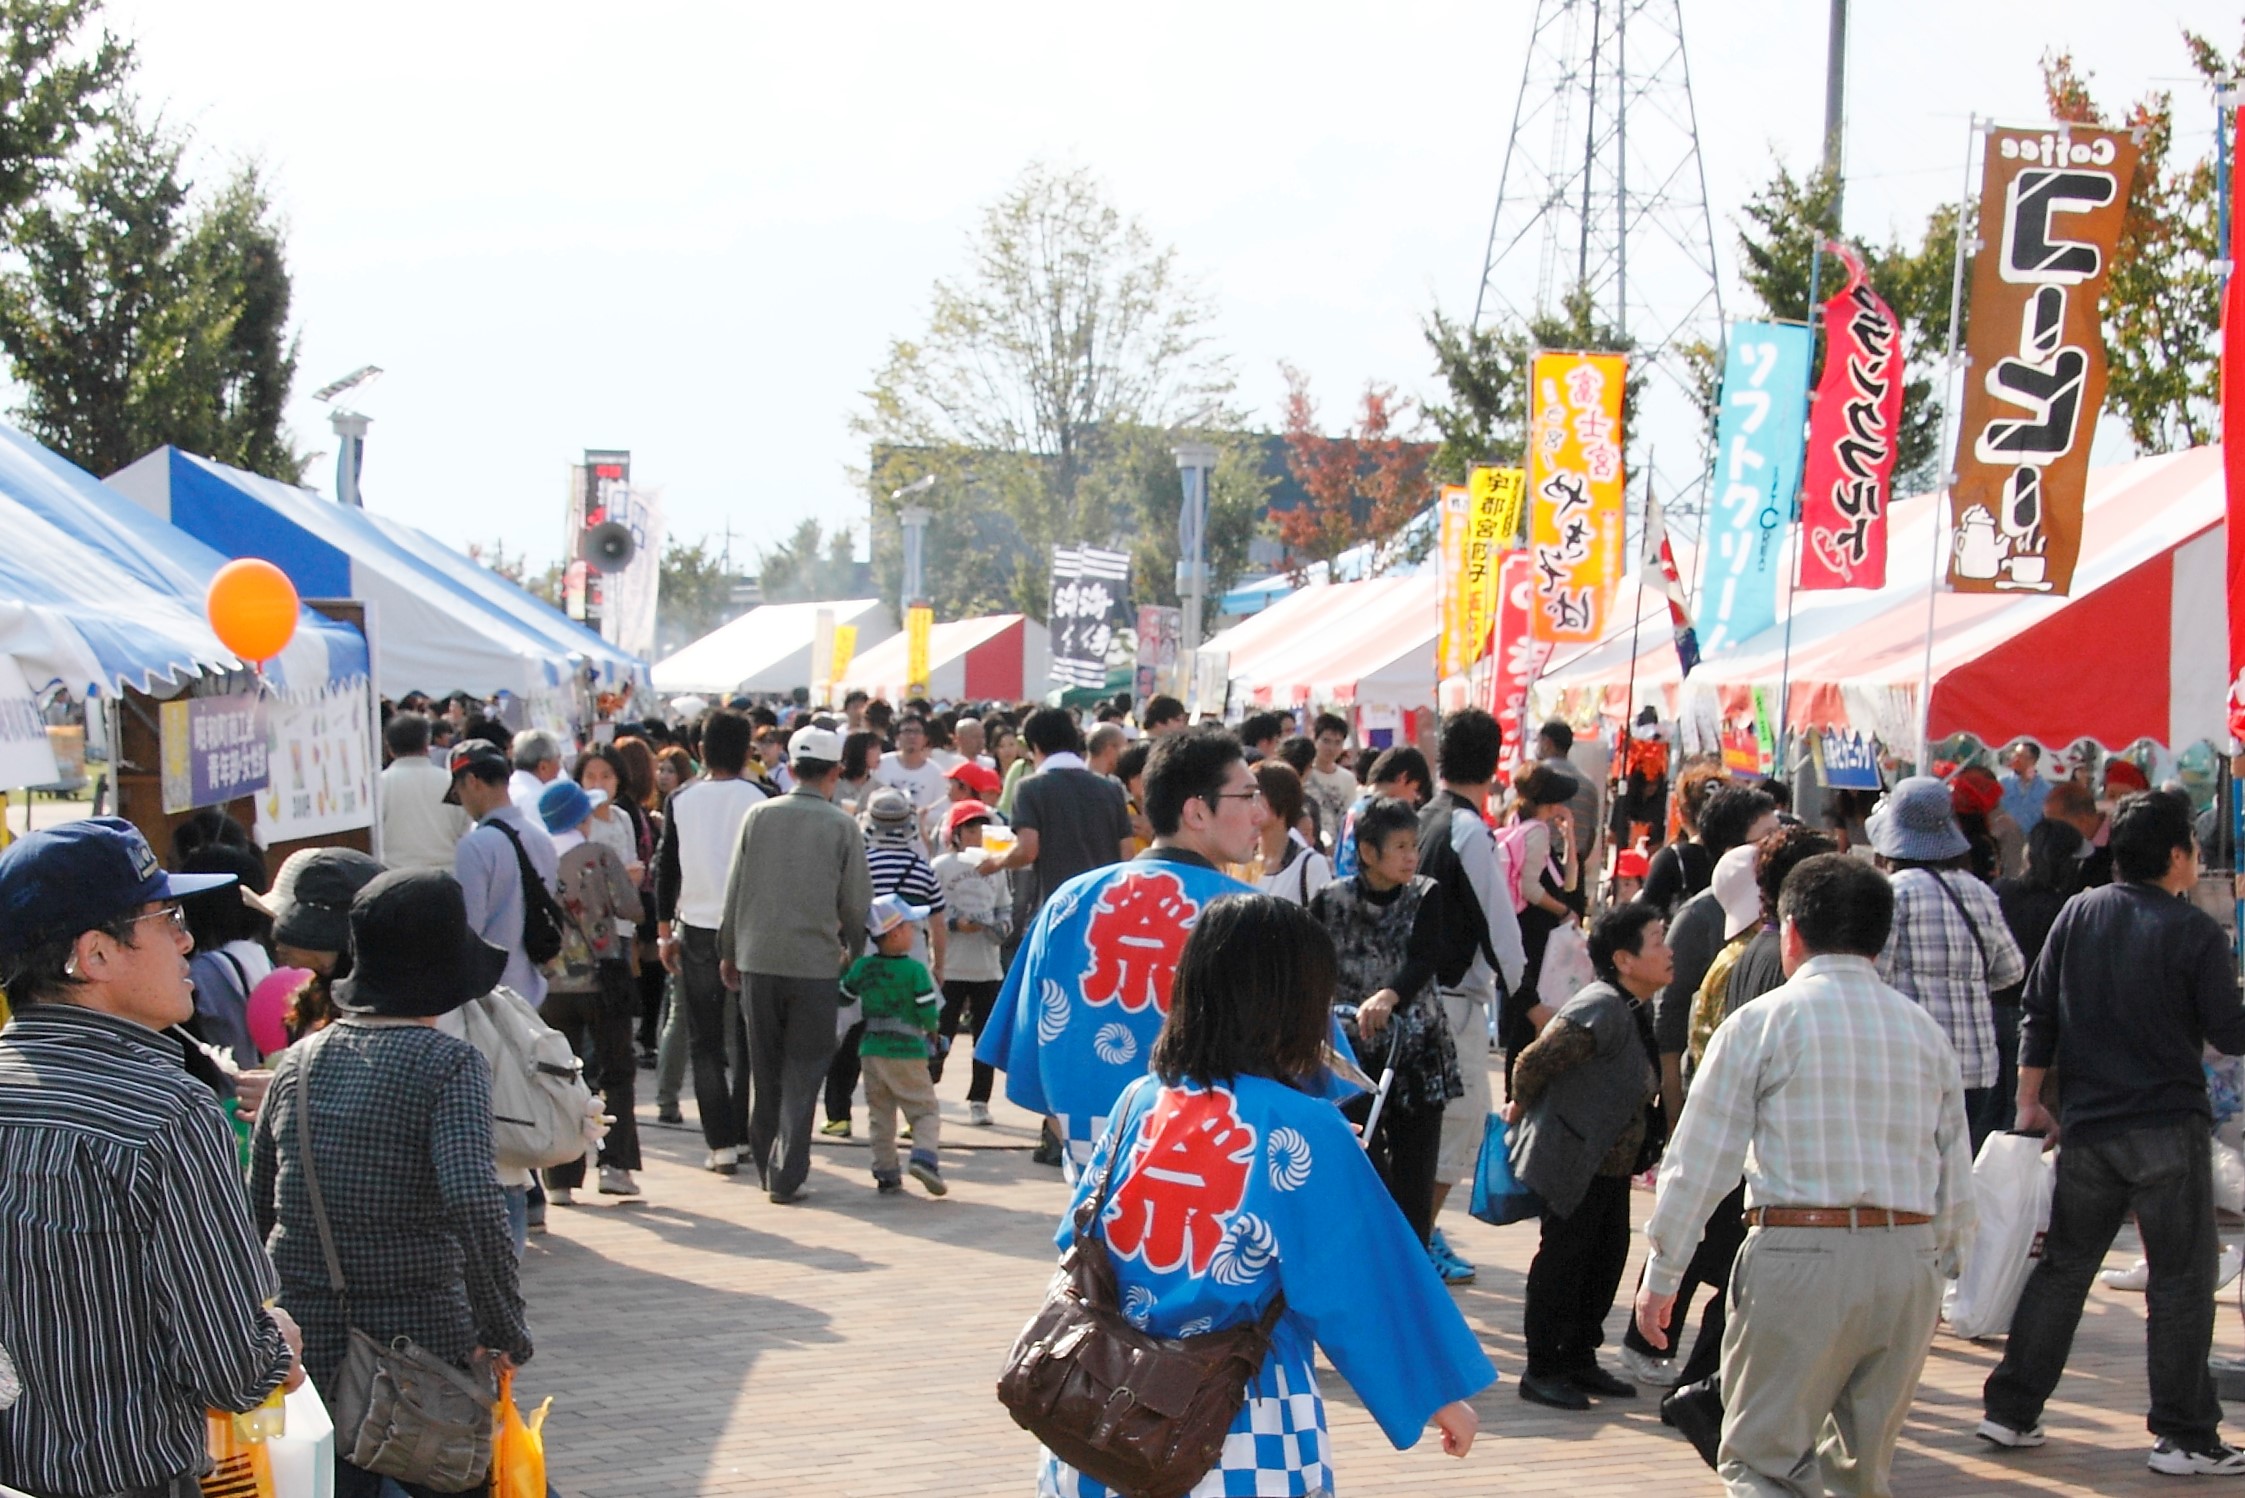
[[[83,38],[101,0],[0,0],[0,218],[31,202],[79,137],[110,117],[132,45]]]

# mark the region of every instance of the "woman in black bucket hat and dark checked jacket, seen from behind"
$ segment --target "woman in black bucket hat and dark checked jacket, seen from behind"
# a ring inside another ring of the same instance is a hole
[[[350,905],[352,972],[337,1022],[274,1065],[258,1109],[249,1202],[281,1271],[281,1305],[303,1325],[303,1363],[332,1397],[348,1330],[411,1336],[458,1368],[530,1359],[507,1208],[492,1168],[492,1080],[483,1056],[431,1029],[489,993],[505,950],[467,928],[460,885],[397,869]],[[305,1089],[312,1139],[299,1130]],[[337,1298],[305,1184],[319,1177],[343,1271]],[[348,1318],[346,1318],[348,1300]],[[341,1455],[337,1498],[382,1480]],[[402,1485],[411,1498],[431,1489]]]

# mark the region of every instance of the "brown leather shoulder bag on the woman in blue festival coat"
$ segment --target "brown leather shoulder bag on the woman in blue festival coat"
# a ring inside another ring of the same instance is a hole
[[[1100,1213],[1136,1112],[1118,1109],[1109,1123],[1107,1163],[1075,1208],[1075,1240],[1015,1339],[997,1397],[1015,1424],[1087,1478],[1127,1498],[1181,1498],[1224,1455],[1286,1296],[1273,1296],[1253,1323],[1199,1336],[1156,1336],[1129,1323]]]

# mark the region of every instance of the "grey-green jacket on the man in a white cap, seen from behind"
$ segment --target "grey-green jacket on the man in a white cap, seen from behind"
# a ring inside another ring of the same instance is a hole
[[[741,820],[718,952],[741,972],[842,977],[864,950],[873,874],[846,811],[797,786]]]

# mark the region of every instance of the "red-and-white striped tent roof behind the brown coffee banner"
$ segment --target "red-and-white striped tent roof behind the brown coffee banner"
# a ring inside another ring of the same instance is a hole
[[[1852,728],[1904,748],[1917,741],[1926,665],[1937,496],[1888,517],[1888,586],[1877,593],[1803,593],[1785,651],[1776,629],[1706,660],[1679,681],[1666,604],[1641,600],[1634,698],[1630,636],[1619,631],[1558,658],[1536,685],[1538,712],[1623,719],[1652,703],[1706,741],[1722,721],[1751,716],[1780,676],[1787,723]],[[2095,739],[2108,750],[2151,739],[2184,748],[2223,737],[2227,692],[2225,492],[2220,447],[2137,458],[2090,472],[2072,597],[1933,597],[1931,737],[1969,732],[1985,743]],[[1625,584],[1628,588],[1628,584]],[[1630,618],[1634,588],[1619,600]]]

